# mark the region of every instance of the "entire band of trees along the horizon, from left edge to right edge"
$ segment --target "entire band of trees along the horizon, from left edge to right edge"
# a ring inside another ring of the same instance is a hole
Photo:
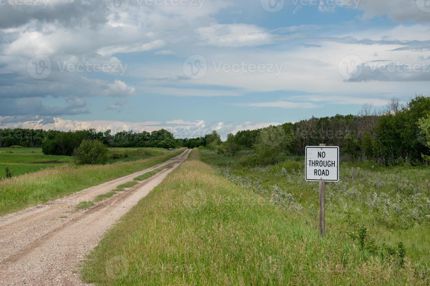
[[[113,135],[111,130],[97,132],[95,129],[68,132],[0,129],[0,147],[42,147],[45,154],[72,155],[83,140],[90,139],[107,147],[203,147],[222,154],[249,150],[255,153],[249,161],[267,164],[276,163],[289,154],[303,156],[306,146],[320,143],[339,146],[343,156],[350,160],[370,159],[392,165],[423,163],[430,160],[429,138],[430,97],[422,95],[415,96],[406,105],[393,98],[382,110],[366,104],[356,115],[311,117],[295,123],[230,133],[224,142],[217,131],[197,138],[178,139],[165,129],[151,133],[121,131]]]

